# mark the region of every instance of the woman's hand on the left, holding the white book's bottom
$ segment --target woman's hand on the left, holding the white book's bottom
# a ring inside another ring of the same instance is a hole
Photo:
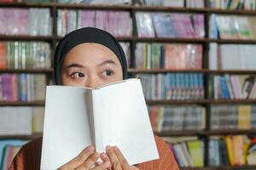
[[[95,147],[90,145],[86,147],[79,156],[68,161],[58,170],[105,170],[111,167],[110,161],[104,161],[102,164],[96,164],[100,154],[96,152]]]

